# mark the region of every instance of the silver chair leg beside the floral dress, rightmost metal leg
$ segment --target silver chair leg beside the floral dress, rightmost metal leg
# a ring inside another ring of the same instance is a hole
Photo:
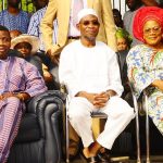
[[[145,95],[145,103],[146,103],[146,145],[147,145],[146,162],[150,163],[150,138],[149,138],[148,99],[147,99],[146,95]]]

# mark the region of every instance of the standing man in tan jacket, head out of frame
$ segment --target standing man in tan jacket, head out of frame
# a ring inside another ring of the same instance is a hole
[[[79,38],[80,34],[76,29],[75,20],[77,12],[84,8],[92,8],[99,15],[101,26],[97,39],[116,51],[115,24],[110,0],[50,0],[40,28],[46,51],[53,62],[58,62],[57,55],[72,39]],[[58,20],[59,25],[57,43],[52,43],[54,18]]]

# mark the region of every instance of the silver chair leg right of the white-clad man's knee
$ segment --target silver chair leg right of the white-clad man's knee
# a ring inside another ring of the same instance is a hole
[[[138,103],[136,97],[133,96],[135,112],[136,112],[136,137],[137,137],[137,163],[141,163],[140,159],[140,137],[139,137],[139,116],[138,116]]]

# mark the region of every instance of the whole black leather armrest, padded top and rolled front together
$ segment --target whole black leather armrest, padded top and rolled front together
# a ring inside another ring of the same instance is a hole
[[[34,97],[27,104],[27,112],[37,116],[40,135],[45,141],[46,162],[61,161],[61,127],[64,93],[48,90]]]

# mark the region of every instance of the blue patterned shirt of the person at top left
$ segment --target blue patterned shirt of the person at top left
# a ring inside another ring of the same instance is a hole
[[[21,10],[17,15],[10,14],[8,10],[0,12],[0,25],[5,26],[9,30],[20,30],[26,34],[28,24],[29,15],[27,12]]]

